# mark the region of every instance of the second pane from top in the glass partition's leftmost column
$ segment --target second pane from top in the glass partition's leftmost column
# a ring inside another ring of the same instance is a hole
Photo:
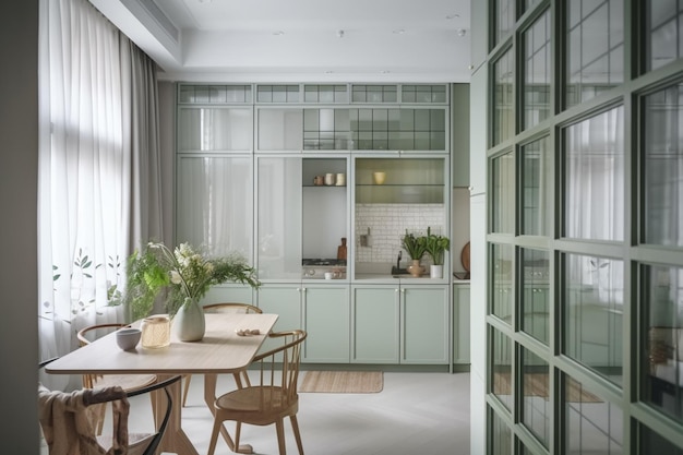
[[[508,50],[493,64],[493,145],[515,134],[514,55]]]

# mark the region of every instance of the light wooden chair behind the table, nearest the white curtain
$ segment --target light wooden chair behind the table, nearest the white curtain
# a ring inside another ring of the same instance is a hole
[[[86,346],[91,344],[92,340],[122,327],[130,327],[130,325],[120,323],[89,325],[80,330],[76,336],[80,345]],[[149,384],[154,384],[156,381],[157,378],[155,374],[84,374],[83,387],[96,388],[118,385],[125,392],[133,392],[142,390]],[[106,404],[103,404],[98,408],[93,408],[92,414],[95,419],[97,434],[101,434],[103,426],[105,423],[106,407]],[[152,411],[155,411],[154,398],[152,398]]]

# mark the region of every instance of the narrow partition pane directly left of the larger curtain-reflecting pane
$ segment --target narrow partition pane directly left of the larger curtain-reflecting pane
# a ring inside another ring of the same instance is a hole
[[[540,139],[522,147],[522,234],[550,236],[553,201],[550,141]]]

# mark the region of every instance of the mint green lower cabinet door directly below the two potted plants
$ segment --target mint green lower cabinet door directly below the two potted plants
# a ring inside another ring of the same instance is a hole
[[[400,363],[447,364],[450,304],[443,285],[400,285]]]

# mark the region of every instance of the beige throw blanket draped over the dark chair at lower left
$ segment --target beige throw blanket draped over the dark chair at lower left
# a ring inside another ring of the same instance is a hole
[[[113,408],[109,450],[98,444],[88,411],[89,405],[106,402],[111,402]],[[72,393],[38,386],[38,418],[50,455],[125,455],[129,406],[125,393],[119,386]]]

